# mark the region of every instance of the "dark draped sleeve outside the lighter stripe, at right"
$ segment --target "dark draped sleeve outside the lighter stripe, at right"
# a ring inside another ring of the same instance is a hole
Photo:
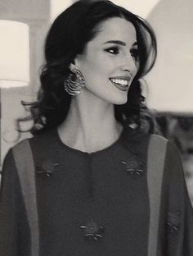
[[[164,256],[193,256],[193,209],[186,189],[182,161],[168,142],[163,180]]]

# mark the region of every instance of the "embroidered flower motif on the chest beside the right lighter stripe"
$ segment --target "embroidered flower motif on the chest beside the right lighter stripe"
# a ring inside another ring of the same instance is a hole
[[[141,176],[144,173],[143,170],[143,163],[138,162],[136,159],[121,161],[121,163],[124,166],[124,171],[128,173],[128,175],[136,174],[138,176]]]

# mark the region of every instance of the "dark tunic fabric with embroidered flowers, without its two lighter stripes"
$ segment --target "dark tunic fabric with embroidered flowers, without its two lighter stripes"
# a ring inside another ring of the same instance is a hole
[[[71,149],[56,130],[30,139],[36,167],[40,256],[146,256],[149,138],[124,130],[114,144],[96,153]],[[141,171],[132,171],[133,167]],[[177,201],[178,188],[186,203],[177,203],[177,211],[171,212],[169,205]],[[171,144],[162,194],[163,256],[178,255],[179,236],[183,237],[180,246],[186,247],[186,253],[179,255],[193,256],[193,226],[186,226],[193,224],[192,209],[179,157]],[[182,214],[178,216],[182,205],[188,224]],[[4,162],[0,211],[0,255],[29,255],[29,224],[12,151]]]

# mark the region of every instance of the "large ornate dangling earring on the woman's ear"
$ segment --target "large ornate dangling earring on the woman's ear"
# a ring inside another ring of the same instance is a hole
[[[81,71],[72,68],[72,73],[64,81],[65,91],[70,95],[78,95],[81,92],[81,89],[85,86],[85,80]]]

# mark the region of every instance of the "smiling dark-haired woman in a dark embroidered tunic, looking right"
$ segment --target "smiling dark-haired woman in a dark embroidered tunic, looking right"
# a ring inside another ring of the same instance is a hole
[[[75,2],[53,23],[45,56],[32,111],[46,122],[29,139],[31,158],[21,142],[4,162],[1,255],[193,255],[179,156],[144,132],[150,25],[109,1]]]

